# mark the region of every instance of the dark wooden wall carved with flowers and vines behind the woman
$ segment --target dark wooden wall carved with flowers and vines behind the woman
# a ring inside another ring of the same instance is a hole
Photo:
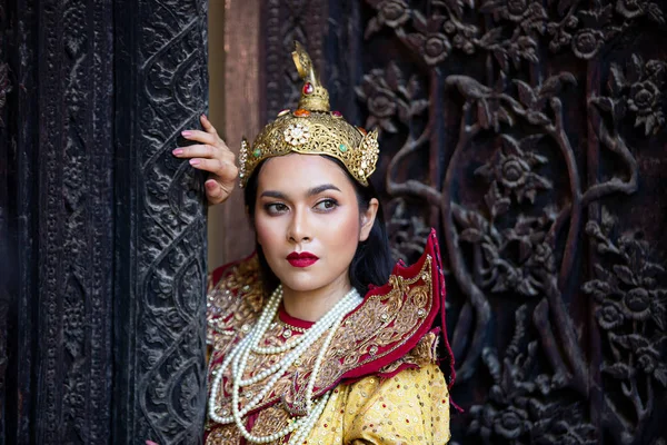
[[[267,117],[296,102],[287,55],[303,39],[334,106],[381,130],[374,180],[397,256],[438,229],[465,408],[452,442],[664,445],[665,2],[265,14]]]

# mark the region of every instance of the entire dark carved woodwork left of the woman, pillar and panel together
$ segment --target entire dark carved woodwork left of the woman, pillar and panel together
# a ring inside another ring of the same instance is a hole
[[[0,444],[199,443],[206,2],[0,6]]]

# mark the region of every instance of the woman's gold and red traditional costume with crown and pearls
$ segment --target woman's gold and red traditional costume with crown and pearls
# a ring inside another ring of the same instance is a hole
[[[306,80],[299,108],[281,112],[252,148],[243,142],[241,186],[261,160],[288,152],[335,157],[367,185],[377,132],[329,111],[308,55],[297,43],[292,56]],[[267,295],[257,255],[215,270],[206,443],[447,443],[454,359],[444,301],[432,231],[416,264],[398,264],[387,284],[362,298],[350,291],[317,323],[290,317],[280,287]],[[436,320],[441,330],[432,329]],[[449,385],[437,350],[450,369]]]

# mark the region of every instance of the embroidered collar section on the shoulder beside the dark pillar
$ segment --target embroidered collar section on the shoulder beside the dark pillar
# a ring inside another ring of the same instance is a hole
[[[249,329],[263,300],[257,255],[215,269],[207,295],[207,342],[217,348]]]

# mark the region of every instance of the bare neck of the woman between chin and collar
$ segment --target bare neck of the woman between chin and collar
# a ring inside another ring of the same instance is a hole
[[[347,274],[319,289],[300,291],[282,285],[285,310],[295,318],[317,322],[352,289]]]

